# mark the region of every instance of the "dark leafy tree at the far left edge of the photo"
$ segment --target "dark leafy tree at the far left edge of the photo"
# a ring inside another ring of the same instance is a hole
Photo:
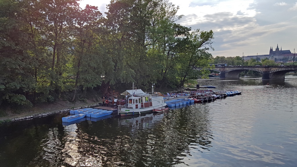
[[[0,9],[0,105],[31,105],[26,96],[36,86],[32,75],[35,60],[26,23],[20,19],[22,8],[15,1],[0,1]]]

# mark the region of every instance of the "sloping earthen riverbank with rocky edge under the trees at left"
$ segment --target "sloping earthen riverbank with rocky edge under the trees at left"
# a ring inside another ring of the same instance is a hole
[[[47,116],[51,114],[67,112],[72,109],[96,107],[99,105],[99,103],[102,103],[102,99],[100,99],[99,102],[93,101],[93,100],[87,100],[86,102],[76,102],[76,103],[70,103],[68,101],[61,100],[50,104],[48,103],[40,104],[32,108],[25,109],[22,111],[22,113],[17,113],[17,114],[7,109],[6,111],[7,115],[0,117],[0,123],[18,121],[18,120],[29,119],[29,118],[40,117],[40,116]]]

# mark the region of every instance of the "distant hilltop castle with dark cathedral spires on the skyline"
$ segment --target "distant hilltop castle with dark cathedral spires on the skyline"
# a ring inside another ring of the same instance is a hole
[[[291,53],[290,50],[282,50],[282,47],[277,47],[275,48],[275,51],[273,51],[273,48],[270,47],[269,54],[265,55],[254,55],[254,56],[244,56],[244,60],[250,60],[250,59],[258,59],[260,61],[261,59],[268,58],[269,60],[274,60],[274,61],[287,61],[289,59],[293,59],[294,54]]]

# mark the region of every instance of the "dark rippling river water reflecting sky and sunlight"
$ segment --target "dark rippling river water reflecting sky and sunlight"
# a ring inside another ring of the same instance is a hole
[[[242,95],[158,115],[63,125],[63,113],[4,123],[0,166],[296,166],[297,77],[198,84]]]

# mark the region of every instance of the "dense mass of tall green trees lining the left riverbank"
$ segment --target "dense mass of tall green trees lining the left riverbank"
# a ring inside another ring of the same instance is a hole
[[[102,83],[176,88],[207,75],[213,32],[177,24],[182,16],[168,0],[107,7],[102,17],[78,0],[0,0],[0,105],[51,102],[62,92],[75,101],[78,89]]]

